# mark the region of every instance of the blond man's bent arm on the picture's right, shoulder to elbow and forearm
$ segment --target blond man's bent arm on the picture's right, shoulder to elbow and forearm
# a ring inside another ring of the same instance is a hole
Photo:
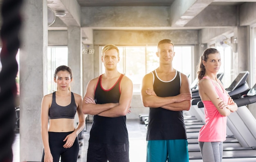
[[[132,101],[132,89],[132,81],[124,76],[124,78],[121,80],[121,95],[119,104],[111,109],[99,113],[98,115],[111,118],[125,116],[130,109],[130,104]]]

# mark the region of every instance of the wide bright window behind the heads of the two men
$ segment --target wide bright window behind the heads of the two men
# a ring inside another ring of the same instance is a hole
[[[99,52],[100,62],[102,48],[100,47]],[[124,73],[132,80],[133,92],[139,93],[144,75],[159,66],[159,58],[156,55],[157,46],[118,46],[118,49],[120,62],[117,64],[117,69],[120,73]],[[191,46],[174,47],[175,57],[173,59],[173,67],[186,75],[190,75],[194,70],[191,68],[191,50]],[[105,67],[103,64],[100,64],[100,67],[102,73],[104,73]]]

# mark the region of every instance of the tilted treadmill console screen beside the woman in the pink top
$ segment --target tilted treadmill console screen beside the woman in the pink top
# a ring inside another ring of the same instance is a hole
[[[234,91],[237,87],[246,83],[249,71],[241,71],[231,85],[226,89],[227,92]]]

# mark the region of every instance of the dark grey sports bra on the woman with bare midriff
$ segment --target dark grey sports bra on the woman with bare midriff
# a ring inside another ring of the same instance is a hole
[[[56,93],[52,93],[52,104],[49,109],[49,119],[68,118],[74,119],[76,115],[76,102],[73,92],[71,92],[71,102],[62,107],[56,103]]]

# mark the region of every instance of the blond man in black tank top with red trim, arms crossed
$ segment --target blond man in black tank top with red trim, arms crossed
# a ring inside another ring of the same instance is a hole
[[[119,50],[107,44],[101,60],[105,73],[90,80],[82,111],[94,115],[87,162],[129,162],[126,114],[132,100],[132,81],[117,70]]]

